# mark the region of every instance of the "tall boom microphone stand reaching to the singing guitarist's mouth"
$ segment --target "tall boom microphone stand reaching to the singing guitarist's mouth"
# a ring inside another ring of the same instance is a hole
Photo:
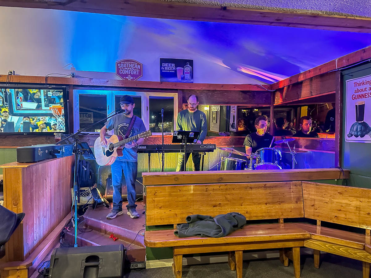
[[[108,120],[109,118],[112,118],[113,116],[115,115],[118,115],[120,113],[123,113],[121,108],[119,111],[117,111],[116,113],[114,113],[113,115],[110,115],[110,116],[107,116],[106,118],[100,120],[99,122],[96,122],[96,123],[92,123],[91,125],[89,125],[87,128],[83,129],[83,130],[78,130],[76,133],[73,133],[71,135],[69,135],[68,137],[64,138],[63,140],[60,140],[59,142],[56,143],[56,145],[60,145],[62,142],[68,142],[67,140],[70,139],[70,138],[73,138],[74,140],[74,143],[73,143],[73,153],[75,154],[75,166],[74,166],[74,176],[73,176],[73,191],[75,192],[75,199],[73,200],[73,202],[75,203],[75,213],[74,213],[74,222],[75,222],[75,244],[73,245],[73,247],[77,247],[77,204],[80,202],[80,187],[78,186],[78,175],[77,175],[77,167],[78,167],[78,164],[79,164],[79,160],[80,160],[80,150],[78,148],[78,141],[79,141],[79,134],[90,129],[91,127],[97,125],[98,123],[101,123],[105,120]]]

